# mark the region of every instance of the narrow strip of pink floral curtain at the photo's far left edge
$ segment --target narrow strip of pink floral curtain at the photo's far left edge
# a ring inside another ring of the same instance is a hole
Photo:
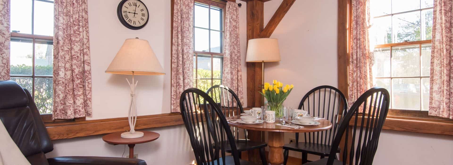
[[[10,0],[0,0],[0,80],[10,80]]]

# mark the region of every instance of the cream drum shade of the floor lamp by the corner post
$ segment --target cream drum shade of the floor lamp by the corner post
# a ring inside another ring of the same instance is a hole
[[[246,62],[280,61],[279,42],[276,38],[255,38],[247,45]]]

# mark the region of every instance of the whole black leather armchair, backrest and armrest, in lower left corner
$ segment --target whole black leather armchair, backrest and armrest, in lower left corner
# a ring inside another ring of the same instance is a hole
[[[52,141],[29,91],[15,81],[0,81],[0,120],[32,165],[146,165],[145,160],[96,156],[46,158]]]

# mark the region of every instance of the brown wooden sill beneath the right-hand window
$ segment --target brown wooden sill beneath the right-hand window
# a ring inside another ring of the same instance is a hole
[[[357,126],[360,125],[362,117],[358,117]],[[351,120],[350,126],[354,125]],[[430,133],[453,136],[453,120],[432,119],[432,118],[414,118],[388,115],[384,126],[386,130]]]

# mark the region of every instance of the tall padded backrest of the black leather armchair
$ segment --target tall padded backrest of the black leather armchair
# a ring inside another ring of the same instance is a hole
[[[27,159],[53,150],[31,94],[15,81],[0,81],[0,120]]]

